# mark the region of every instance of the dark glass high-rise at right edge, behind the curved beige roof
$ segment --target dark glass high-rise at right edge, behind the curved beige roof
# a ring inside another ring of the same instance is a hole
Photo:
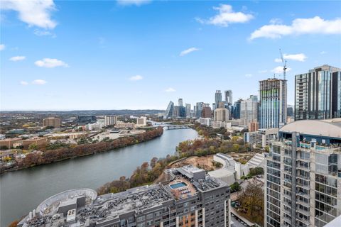
[[[295,120],[341,117],[341,69],[323,65],[295,76]]]

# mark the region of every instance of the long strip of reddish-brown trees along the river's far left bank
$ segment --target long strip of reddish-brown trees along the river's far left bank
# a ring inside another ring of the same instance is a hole
[[[124,148],[129,145],[135,145],[137,143],[152,140],[153,138],[157,138],[162,134],[163,128],[158,127],[150,131],[146,131],[145,133],[118,138],[112,141],[81,144],[70,148],[39,150],[38,152],[28,153],[26,157],[16,162],[14,165],[11,165],[11,167],[1,166],[0,174],[3,174],[4,172],[23,170],[38,165],[47,165],[53,162],[60,162],[71,158],[94,155],[96,153],[102,153],[117,148]]]

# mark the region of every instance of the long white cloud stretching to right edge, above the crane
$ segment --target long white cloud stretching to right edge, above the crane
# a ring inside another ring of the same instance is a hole
[[[253,33],[250,39],[255,38],[281,38],[284,35],[302,34],[340,34],[341,18],[325,20],[319,16],[313,18],[297,18],[290,26],[282,24],[269,24],[262,26]]]

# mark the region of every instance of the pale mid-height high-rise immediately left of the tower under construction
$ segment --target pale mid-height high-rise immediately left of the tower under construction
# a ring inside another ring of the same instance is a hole
[[[258,121],[258,101],[254,99],[254,96],[240,102],[240,121],[244,126]]]

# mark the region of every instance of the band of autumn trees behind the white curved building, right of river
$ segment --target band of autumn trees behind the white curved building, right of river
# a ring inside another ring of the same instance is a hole
[[[242,140],[203,139],[186,140],[179,143],[176,148],[180,157],[205,156],[216,153],[244,153],[251,150],[249,145],[244,145]]]

